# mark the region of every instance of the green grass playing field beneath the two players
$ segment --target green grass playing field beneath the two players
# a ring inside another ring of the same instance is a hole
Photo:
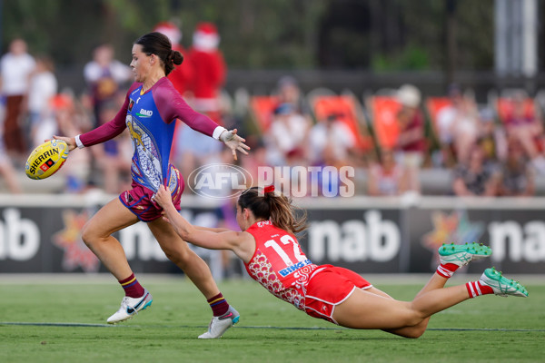
[[[113,278],[84,278],[81,284],[77,278],[40,282],[45,279],[0,279],[0,362],[545,359],[545,281],[535,278],[525,283],[529,299],[471,299],[435,315],[430,329],[419,339],[399,338],[378,330],[338,328],[306,316],[253,281],[227,281],[220,287],[241,313],[241,321],[215,340],[196,338],[206,330],[211,311],[198,290],[183,278],[140,277],[153,293],[154,304],[117,326],[105,325],[123,296]],[[411,299],[421,287],[420,281],[394,285],[379,279],[373,283],[396,299]]]

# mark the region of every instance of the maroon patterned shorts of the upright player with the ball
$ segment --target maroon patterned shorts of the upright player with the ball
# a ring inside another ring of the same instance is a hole
[[[170,168],[168,175],[168,187],[171,190],[173,204],[177,211],[180,211],[180,200],[183,192],[183,179],[180,172],[173,166]],[[140,221],[155,221],[161,217],[163,208],[152,200],[155,192],[146,188],[137,182],[131,184],[133,189],[124,191],[119,195],[119,200],[125,207],[132,211]]]

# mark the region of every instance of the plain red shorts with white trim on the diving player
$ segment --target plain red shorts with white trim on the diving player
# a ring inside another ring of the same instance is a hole
[[[305,295],[305,312],[311,317],[325,319],[334,324],[335,306],[348,299],[354,289],[370,289],[372,284],[357,273],[335,267],[322,265],[309,280]]]

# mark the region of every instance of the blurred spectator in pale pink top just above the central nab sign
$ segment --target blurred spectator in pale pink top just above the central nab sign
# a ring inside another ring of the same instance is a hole
[[[409,191],[408,173],[395,161],[393,152],[381,150],[379,158],[380,162],[369,168],[367,193],[376,197],[401,195]]]

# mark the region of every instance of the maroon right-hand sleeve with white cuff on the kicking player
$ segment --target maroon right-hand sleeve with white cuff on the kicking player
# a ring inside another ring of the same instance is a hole
[[[194,111],[183,100],[182,95],[174,89],[170,81],[168,86],[158,88],[156,91],[154,93],[155,104],[165,123],[172,123],[176,119],[180,119],[193,130],[218,139],[224,128],[214,123],[203,113]]]

